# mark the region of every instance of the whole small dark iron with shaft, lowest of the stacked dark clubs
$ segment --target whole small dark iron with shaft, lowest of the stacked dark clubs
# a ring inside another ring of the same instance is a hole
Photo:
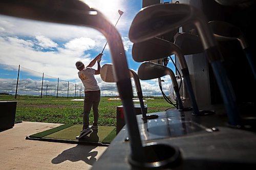
[[[179,85],[177,83],[173,70],[161,64],[157,64],[153,62],[144,62],[139,66],[139,69],[138,69],[138,76],[141,80],[157,79],[165,75],[169,75],[170,78],[172,79],[179,109],[182,110],[184,107],[180,98]]]

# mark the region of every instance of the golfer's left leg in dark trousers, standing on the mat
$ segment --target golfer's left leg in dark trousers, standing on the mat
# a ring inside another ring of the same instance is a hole
[[[82,129],[89,128],[89,114],[93,105],[92,96],[86,92],[86,96],[83,101],[83,127]]]

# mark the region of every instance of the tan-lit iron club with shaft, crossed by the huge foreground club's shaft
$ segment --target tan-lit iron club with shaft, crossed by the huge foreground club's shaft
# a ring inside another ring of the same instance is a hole
[[[108,82],[108,83],[115,83],[116,82],[115,71],[114,71],[113,68],[114,68],[113,64],[104,64],[101,67],[100,77],[104,82]],[[139,77],[136,74],[136,72],[134,72],[131,69],[130,69],[130,75],[134,79],[134,82],[135,82],[137,95],[138,95],[138,98],[139,98],[139,101],[140,101],[140,109],[141,109],[142,117],[146,118],[146,111],[145,111],[145,107],[144,107],[144,103],[143,103],[143,95],[142,95],[142,90],[141,90],[141,86],[140,86]]]

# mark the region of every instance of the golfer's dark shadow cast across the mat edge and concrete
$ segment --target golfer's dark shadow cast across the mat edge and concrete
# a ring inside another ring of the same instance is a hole
[[[79,139],[79,141],[90,141],[90,142],[98,142],[99,136],[97,135],[98,131],[94,130],[88,136]],[[97,145],[84,145],[77,144],[76,147],[70,148],[68,150],[63,151],[57,157],[52,159],[52,163],[58,164],[64,162],[66,160],[77,162],[84,161],[89,165],[93,165],[97,159],[95,158],[98,155],[98,151],[92,151],[95,149]]]

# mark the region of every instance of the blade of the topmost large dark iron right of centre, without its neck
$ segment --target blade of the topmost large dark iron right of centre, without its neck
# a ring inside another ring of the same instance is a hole
[[[173,31],[184,25],[195,8],[187,4],[156,4],[145,7],[133,19],[129,38],[138,43]]]

